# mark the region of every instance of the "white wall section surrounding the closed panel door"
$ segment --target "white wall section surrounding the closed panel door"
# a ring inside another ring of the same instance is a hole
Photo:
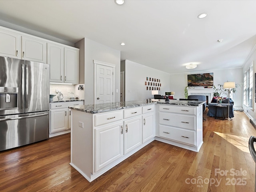
[[[120,101],[120,51],[84,38],[84,104],[94,104],[94,62],[93,60],[116,65],[115,102]],[[116,92],[118,89],[118,93]]]

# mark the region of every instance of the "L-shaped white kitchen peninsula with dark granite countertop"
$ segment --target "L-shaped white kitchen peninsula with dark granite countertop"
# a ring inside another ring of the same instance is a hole
[[[91,182],[153,140],[198,152],[202,104],[147,99],[69,107],[70,165]]]

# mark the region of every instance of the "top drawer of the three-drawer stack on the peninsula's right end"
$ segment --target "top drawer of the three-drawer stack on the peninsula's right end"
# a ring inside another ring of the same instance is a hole
[[[163,112],[172,112],[172,113],[181,113],[188,115],[195,115],[196,108],[195,107],[185,107],[185,106],[170,106],[170,105],[160,105],[159,111]]]

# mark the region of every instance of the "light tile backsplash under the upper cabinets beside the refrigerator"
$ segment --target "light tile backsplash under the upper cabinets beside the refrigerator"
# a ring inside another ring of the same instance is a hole
[[[74,93],[74,97],[84,99],[84,90],[77,90],[77,87],[77,85],[50,84],[50,94],[57,94],[56,89],[59,89],[62,92],[64,99],[69,99],[71,92]]]

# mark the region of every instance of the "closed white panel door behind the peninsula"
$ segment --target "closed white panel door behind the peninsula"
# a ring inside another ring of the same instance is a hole
[[[95,104],[113,102],[113,68],[97,64]]]

